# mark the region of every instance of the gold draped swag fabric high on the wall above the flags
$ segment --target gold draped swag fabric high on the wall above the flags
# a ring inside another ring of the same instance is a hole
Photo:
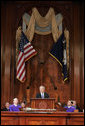
[[[62,19],[61,19],[61,21],[62,21]],[[37,25],[39,27],[42,27],[42,28],[47,27],[51,24],[51,31],[47,31],[45,33],[39,32],[38,30],[35,29],[35,22],[37,23]],[[45,17],[42,17],[36,8],[33,8],[29,24],[27,24],[27,25],[28,25],[28,28],[25,31],[25,34],[26,34],[27,38],[29,39],[29,41],[32,41],[34,33],[39,33],[39,34],[41,33],[42,35],[45,35],[45,34],[49,34],[52,32],[54,42],[57,41],[58,37],[61,34],[58,30],[59,24],[57,24],[57,22],[56,22],[56,17],[55,17],[53,8],[49,9],[49,11]]]

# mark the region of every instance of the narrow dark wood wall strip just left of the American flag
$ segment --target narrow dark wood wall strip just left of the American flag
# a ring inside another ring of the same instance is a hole
[[[15,6],[13,4],[9,5],[11,8],[11,60],[10,60],[10,102],[13,102],[14,98],[14,87],[16,79],[16,27],[15,27]]]

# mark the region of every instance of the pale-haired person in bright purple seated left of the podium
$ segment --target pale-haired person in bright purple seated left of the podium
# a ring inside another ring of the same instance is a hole
[[[21,106],[18,105],[18,98],[13,99],[13,105],[9,106],[10,111],[20,111]]]

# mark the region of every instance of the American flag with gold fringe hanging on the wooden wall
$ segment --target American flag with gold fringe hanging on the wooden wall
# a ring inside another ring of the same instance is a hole
[[[21,82],[26,80],[26,69],[25,69],[25,62],[36,55],[37,52],[28,41],[25,34],[21,33],[21,39],[19,43],[19,54],[17,58],[17,79]]]

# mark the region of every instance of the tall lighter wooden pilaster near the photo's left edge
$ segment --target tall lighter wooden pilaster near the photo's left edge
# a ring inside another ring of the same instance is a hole
[[[11,16],[10,8],[6,4],[6,30],[5,30],[5,72],[4,72],[4,101],[10,101],[10,51],[11,51]]]

